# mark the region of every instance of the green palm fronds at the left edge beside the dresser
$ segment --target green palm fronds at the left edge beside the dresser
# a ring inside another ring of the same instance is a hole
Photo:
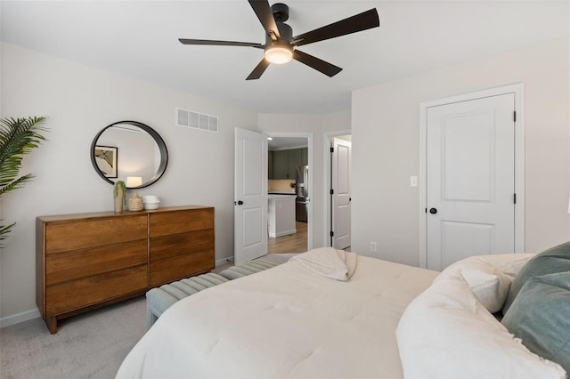
[[[22,157],[45,141],[41,134],[47,132],[44,121],[45,117],[0,119],[0,198],[34,178],[31,173],[20,177],[18,174]],[[15,225],[16,222],[0,224],[0,240],[8,238],[8,233]]]

